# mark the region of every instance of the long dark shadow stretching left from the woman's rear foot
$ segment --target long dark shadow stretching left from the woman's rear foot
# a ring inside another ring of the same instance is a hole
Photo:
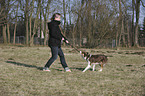
[[[38,67],[35,65],[28,65],[28,64],[24,64],[24,63],[15,62],[15,61],[6,61],[6,63],[11,63],[11,64],[18,65],[18,66],[24,66],[24,67],[29,67],[29,68],[36,68],[38,70],[43,70],[43,67]]]

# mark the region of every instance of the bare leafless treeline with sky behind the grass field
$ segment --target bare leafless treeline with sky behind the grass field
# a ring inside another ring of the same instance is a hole
[[[64,35],[75,46],[145,46],[141,6],[142,0],[0,0],[0,42],[47,45],[47,23],[59,12]]]

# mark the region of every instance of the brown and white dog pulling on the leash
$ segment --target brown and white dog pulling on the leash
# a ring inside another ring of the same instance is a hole
[[[108,58],[105,55],[91,55],[88,52],[80,51],[81,56],[88,62],[88,66],[83,70],[85,72],[86,70],[91,68],[91,65],[93,65],[93,71],[95,71],[96,64],[99,64],[101,66],[101,69],[99,71],[103,70],[103,66],[107,63]]]

